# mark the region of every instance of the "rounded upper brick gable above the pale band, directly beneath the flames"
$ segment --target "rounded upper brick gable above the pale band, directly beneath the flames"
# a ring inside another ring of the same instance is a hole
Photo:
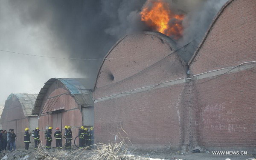
[[[126,36],[107,58],[129,58],[104,61],[96,80],[95,98],[183,77],[186,69],[177,54],[172,55],[175,49],[174,42],[153,32]],[[114,80],[110,80],[110,74]]]

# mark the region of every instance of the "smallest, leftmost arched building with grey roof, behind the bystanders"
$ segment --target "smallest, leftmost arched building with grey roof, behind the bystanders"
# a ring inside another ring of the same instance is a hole
[[[1,115],[3,130],[14,129],[17,135],[16,146],[24,146],[24,129],[35,129],[38,126],[38,117],[32,115],[37,94],[10,94],[4,105]],[[31,140],[33,143],[34,141]]]

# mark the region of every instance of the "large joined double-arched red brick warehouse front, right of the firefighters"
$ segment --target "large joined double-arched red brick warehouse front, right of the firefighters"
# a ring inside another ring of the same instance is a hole
[[[163,34],[119,40],[93,92],[96,142],[114,142],[121,124],[138,148],[255,153],[255,8],[254,0],[229,0],[187,65]]]

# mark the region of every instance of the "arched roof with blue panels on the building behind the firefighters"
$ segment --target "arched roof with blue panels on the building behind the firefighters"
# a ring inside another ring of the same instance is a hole
[[[66,87],[78,105],[85,107],[94,105],[91,92],[89,91],[93,86],[90,86],[88,79],[51,78],[44,83],[44,87],[40,90],[32,114],[41,114],[39,112],[41,111],[44,96],[47,94],[49,87],[56,81],[61,82]]]

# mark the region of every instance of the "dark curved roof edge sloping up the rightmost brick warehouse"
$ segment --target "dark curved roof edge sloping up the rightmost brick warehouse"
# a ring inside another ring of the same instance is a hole
[[[197,56],[198,52],[200,51],[201,47],[204,45],[205,40],[207,39],[209,33],[212,30],[212,27],[215,25],[215,23],[217,22],[218,18],[221,16],[221,14],[223,13],[223,11],[227,8],[228,5],[230,5],[230,3],[232,3],[234,0],[228,0],[221,8],[220,11],[218,11],[217,15],[215,16],[215,18],[212,20],[211,25],[209,26],[207,32],[204,35],[203,40],[201,41],[201,43],[198,46],[198,49],[195,51],[195,53],[192,55],[191,59],[188,62],[188,65],[190,65],[193,60],[195,59],[195,57]]]

